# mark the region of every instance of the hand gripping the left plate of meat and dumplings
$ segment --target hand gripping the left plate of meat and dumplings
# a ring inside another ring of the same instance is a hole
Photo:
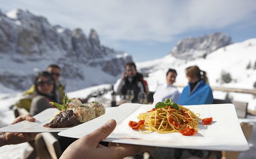
[[[33,118],[32,115],[30,115],[30,114],[20,115],[16,119],[14,119],[12,124],[21,122],[23,120],[34,122],[35,118]],[[23,142],[32,141],[37,134],[38,133],[6,132],[4,135],[5,143],[6,144],[20,144]]]

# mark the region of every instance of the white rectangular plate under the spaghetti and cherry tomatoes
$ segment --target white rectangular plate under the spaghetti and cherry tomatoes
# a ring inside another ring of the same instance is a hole
[[[216,151],[246,151],[249,150],[233,104],[211,104],[185,106],[200,118],[213,117],[213,123],[199,123],[198,133],[193,136],[183,136],[178,132],[159,134],[152,132],[143,134],[128,126],[130,120],[138,121],[137,116],[153,108],[153,105],[125,103],[99,118],[59,132],[65,137],[81,138],[105,124],[109,119],[117,121],[116,129],[105,140],[106,142],[148,145],[157,147],[174,147],[184,149],[216,150]]]

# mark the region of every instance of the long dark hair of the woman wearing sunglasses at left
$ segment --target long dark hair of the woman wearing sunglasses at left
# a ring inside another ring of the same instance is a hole
[[[37,81],[38,81],[38,78],[42,77],[42,76],[48,78],[50,81],[53,81],[53,90],[52,90],[52,92],[50,92],[50,94],[43,94],[43,93],[39,92],[39,90],[38,90],[38,82]],[[35,94],[45,96],[54,102],[57,101],[57,95],[56,95],[56,91],[55,91],[56,84],[55,84],[53,76],[50,73],[48,73],[47,71],[39,72],[35,77],[34,85],[35,85]]]

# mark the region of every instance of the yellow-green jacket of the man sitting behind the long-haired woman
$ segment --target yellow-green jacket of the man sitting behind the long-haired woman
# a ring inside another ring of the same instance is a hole
[[[65,85],[59,84],[57,87],[60,91],[61,99],[65,96]],[[22,93],[21,99],[19,99],[14,105],[19,108],[25,108],[28,112],[30,109],[32,98],[34,97],[35,85],[32,85],[28,90]]]

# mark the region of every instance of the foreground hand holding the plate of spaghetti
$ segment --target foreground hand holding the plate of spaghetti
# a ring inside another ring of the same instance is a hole
[[[118,159],[150,150],[154,147],[109,143],[108,147],[99,144],[108,137],[116,127],[116,121],[111,119],[90,134],[76,140],[62,153],[60,158],[105,158]]]

